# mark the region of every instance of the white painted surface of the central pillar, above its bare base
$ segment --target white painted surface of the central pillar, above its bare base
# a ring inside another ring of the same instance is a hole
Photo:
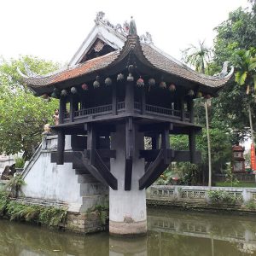
[[[136,148],[143,149],[143,135],[136,132]],[[144,173],[144,160],[135,153],[131,191],[125,191],[125,125],[118,125],[113,133],[111,148],[116,150],[116,159],[111,159],[111,172],[118,179],[118,190],[109,189],[109,220],[124,222],[131,218],[134,222],[146,221],[146,192],[139,190],[138,180]]]

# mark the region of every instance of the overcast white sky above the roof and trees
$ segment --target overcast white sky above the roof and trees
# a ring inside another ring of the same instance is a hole
[[[70,61],[102,10],[113,24],[134,16],[139,35],[150,32],[154,44],[169,55],[206,39],[229,12],[246,7],[247,0],[0,0],[0,55],[19,55]]]

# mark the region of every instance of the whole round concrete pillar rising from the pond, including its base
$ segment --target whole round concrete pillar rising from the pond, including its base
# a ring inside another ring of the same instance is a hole
[[[137,130],[137,126],[134,126]],[[141,235],[147,232],[146,191],[139,190],[138,180],[144,174],[143,134],[135,131],[131,190],[125,191],[125,125],[117,125],[111,137],[111,148],[116,159],[111,159],[110,170],[118,179],[118,190],[109,190],[109,233],[113,235]]]

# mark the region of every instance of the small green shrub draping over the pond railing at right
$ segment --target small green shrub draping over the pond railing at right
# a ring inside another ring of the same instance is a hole
[[[222,190],[209,190],[207,195],[214,204],[226,203],[228,205],[236,205],[236,203],[241,202],[238,200],[235,195],[231,195],[227,191]]]

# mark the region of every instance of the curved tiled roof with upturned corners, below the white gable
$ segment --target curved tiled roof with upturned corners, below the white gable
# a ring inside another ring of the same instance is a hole
[[[137,36],[128,36],[123,49],[116,50],[108,55],[102,55],[90,61],[78,64],[72,68],[67,68],[61,72],[52,73],[44,77],[27,77],[23,75],[23,79],[30,87],[43,89],[46,85],[58,84],[69,79],[79,78],[90,73],[96,73],[106,67],[114,67],[124,60],[127,55],[133,53],[137,58],[148,67],[153,67],[163,73],[177,76],[178,78],[189,80],[195,84],[202,84],[206,87],[218,90],[224,86],[230,79],[233,71],[224,77],[207,76],[196,73],[191,68],[185,66],[181,62],[166,55],[160,49],[152,44],[141,44]]]

